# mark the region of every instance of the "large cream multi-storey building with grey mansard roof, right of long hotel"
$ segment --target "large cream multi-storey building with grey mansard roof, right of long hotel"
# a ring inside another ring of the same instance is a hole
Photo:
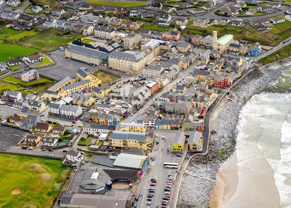
[[[108,54],[108,65],[114,69],[126,72],[139,72],[145,64],[155,61],[154,52],[150,49],[143,51],[112,51]]]

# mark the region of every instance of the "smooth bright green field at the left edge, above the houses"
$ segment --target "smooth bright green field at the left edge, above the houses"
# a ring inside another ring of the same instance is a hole
[[[37,49],[27,48],[20,45],[0,44],[0,62],[8,61],[8,57],[15,58],[17,56],[39,52]]]

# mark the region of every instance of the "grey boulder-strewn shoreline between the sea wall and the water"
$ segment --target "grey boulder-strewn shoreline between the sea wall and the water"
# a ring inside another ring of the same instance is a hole
[[[235,151],[237,138],[237,123],[242,107],[255,94],[264,92],[290,93],[289,90],[276,87],[276,79],[281,71],[288,67],[267,69],[265,72],[256,71],[246,78],[235,90],[233,97],[237,103],[228,101],[217,118],[212,122],[212,136],[209,144],[209,154],[205,157],[194,157],[187,168],[187,172],[200,177],[216,179],[220,166]],[[269,83],[273,83],[270,85]],[[275,82],[274,82],[275,81]],[[275,84],[274,84],[275,83]],[[177,200],[177,207],[210,207],[210,191],[215,182],[185,175]]]

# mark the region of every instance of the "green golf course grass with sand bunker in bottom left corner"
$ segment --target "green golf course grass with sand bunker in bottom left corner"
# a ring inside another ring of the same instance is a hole
[[[52,207],[71,172],[56,159],[0,154],[0,160],[0,207]]]

